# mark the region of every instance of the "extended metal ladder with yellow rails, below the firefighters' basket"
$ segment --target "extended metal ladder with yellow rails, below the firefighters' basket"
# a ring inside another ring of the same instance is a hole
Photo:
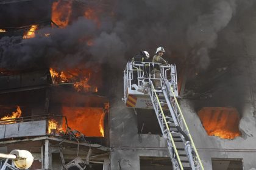
[[[148,92],[163,137],[168,144],[173,169],[204,170],[171,83],[162,80],[162,84],[162,87],[155,88],[149,80]]]

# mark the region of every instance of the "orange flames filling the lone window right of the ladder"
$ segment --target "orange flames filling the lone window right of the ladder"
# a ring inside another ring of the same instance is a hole
[[[241,136],[239,114],[233,107],[203,107],[198,115],[210,136],[225,139]]]

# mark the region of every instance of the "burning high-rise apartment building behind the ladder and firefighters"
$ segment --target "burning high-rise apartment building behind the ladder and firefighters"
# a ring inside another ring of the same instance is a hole
[[[0,0],[0,152],[32,152],[31,170],[171,169],[154,110],[121,101],[126,61],[163,46],[204,168],[253,170],[255,6]]]

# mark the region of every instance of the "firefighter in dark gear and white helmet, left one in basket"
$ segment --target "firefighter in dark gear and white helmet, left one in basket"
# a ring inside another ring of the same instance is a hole
[[[141,64],[141,62],[149,62],[149,53],[147,51],[141,51],[140,54],[133,56],[132,62],[135,64]],[[139,70],[140,73],[144,71],[146,68],[142,68],[143,70]],[[133,68],[133,80],[132,84],[138,84],[138,69]]]

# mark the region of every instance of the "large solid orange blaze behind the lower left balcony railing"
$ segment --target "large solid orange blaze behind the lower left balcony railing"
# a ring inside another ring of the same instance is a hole
[[[68,126],[88,137],[104,137],[105,112],[101,107],[62,107]]]

